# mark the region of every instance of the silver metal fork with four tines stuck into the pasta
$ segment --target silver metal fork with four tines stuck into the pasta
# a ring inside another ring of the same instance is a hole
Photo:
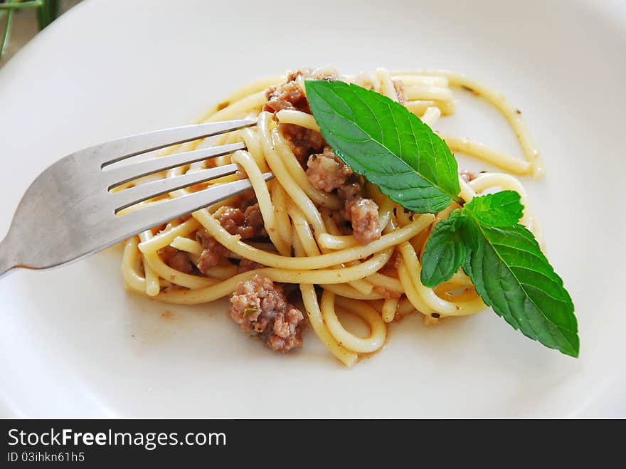
[[[233,120],[156,130],[105,142],[60,159],[41,173],[23,195],[9,233],[0,242],[0,276],[16,267],[45,269],[83,258],[250,189],[250,181],[240,179],[119,214],[155,196],[234,174],[238,167],[227,164],[111,192],[115,187],[164,169],[230,154],[245,149],[245,144],[197,149],[125,166],[111,165],[155,149],[256,123]],[[263,177],[267,181],[273,175],[268,172]]]

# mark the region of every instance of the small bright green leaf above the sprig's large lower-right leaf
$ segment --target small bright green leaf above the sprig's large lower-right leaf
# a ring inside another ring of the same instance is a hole
[[[463,209],[482,226],[512,226],[521,218],[524,206],[516,191],[502,191],[474,197]]]

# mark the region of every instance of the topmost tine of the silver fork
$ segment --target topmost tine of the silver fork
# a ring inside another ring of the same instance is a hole
[[[171,129],[154,130],[143,134],[130,135],[90,147],[78,153],[86,152],[100,164],[100,168],[134,157],[137,154],[152,152],[170,145],[189,142],[212,135],[219,135],[232,130],[255,125],[255,119],[230,120],[225,122],[208,122],[206,124],[184,125]]]

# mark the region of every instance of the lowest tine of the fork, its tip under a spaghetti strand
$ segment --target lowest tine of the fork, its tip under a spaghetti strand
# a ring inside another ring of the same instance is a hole
[[[274,177],[274,174],[263,173],[263,179],[268,181]],[[250,189],[252,185],[248,179],[240,179],[239,181],[227,182],[226,184],[216,184],[215,186],[204,189],[203,191],[193,192],[184,196],[177,197],[147,206],[144,209],[135,210],[129,214],[117,217],[124,230],[124,237],[134,236],[154,226],[162,225],[174,218],[191,214],[191,212],[202,209],[203,207],[216,204],[219,201],[228,199],[236,194]]]

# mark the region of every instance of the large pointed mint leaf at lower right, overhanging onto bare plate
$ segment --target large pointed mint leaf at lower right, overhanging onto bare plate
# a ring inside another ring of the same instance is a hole
[[[480,197],[482,199],[482,197]],[[578,357],[578,325],[563,280],[524,226],[463,226],[470,255],[464,270],[486,305],[546,347]]]

